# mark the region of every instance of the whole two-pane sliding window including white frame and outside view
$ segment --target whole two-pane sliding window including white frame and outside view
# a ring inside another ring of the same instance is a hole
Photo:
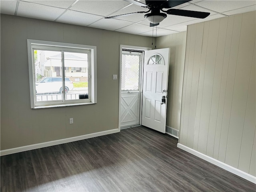
[[[96,46],[28,40],[28,63],[31,108],[96,103]]]

